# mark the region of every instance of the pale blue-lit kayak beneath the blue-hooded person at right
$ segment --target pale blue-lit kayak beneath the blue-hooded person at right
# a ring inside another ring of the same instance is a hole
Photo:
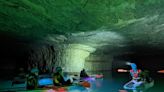
[[[126,90],[147,90],[154,86],[154,80],[151,82],[140,81],[139,79],[133,79],[124,85]]]

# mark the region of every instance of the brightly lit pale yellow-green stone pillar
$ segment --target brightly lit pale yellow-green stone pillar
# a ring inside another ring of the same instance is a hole
[[[58,66],[66,72],[80,72],[84,68],[86,57],[96,49],[83,44],[68,44],[60,50]]]

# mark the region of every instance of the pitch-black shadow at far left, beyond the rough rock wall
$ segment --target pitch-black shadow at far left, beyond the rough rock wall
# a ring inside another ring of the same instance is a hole
[[[27,69],[30,44],[32,40],[11,33],[0,33],[0,76],[12,77],[19,72],[19,68]]]

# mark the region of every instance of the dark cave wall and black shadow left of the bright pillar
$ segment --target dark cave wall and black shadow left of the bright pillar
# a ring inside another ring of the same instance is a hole
[[[0,33],[0,76],[13,78],[20,68],[28,72],[35,64],[52,68],[55,61],[54,47],[23,39],[14,34]]]

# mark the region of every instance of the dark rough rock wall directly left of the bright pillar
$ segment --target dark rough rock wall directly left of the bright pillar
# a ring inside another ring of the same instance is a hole
[[[28,52],[27,68],[42,68],[44,65],[51,71],[56,59],[56,51],[53,46],[41,45],[32,46]]]

